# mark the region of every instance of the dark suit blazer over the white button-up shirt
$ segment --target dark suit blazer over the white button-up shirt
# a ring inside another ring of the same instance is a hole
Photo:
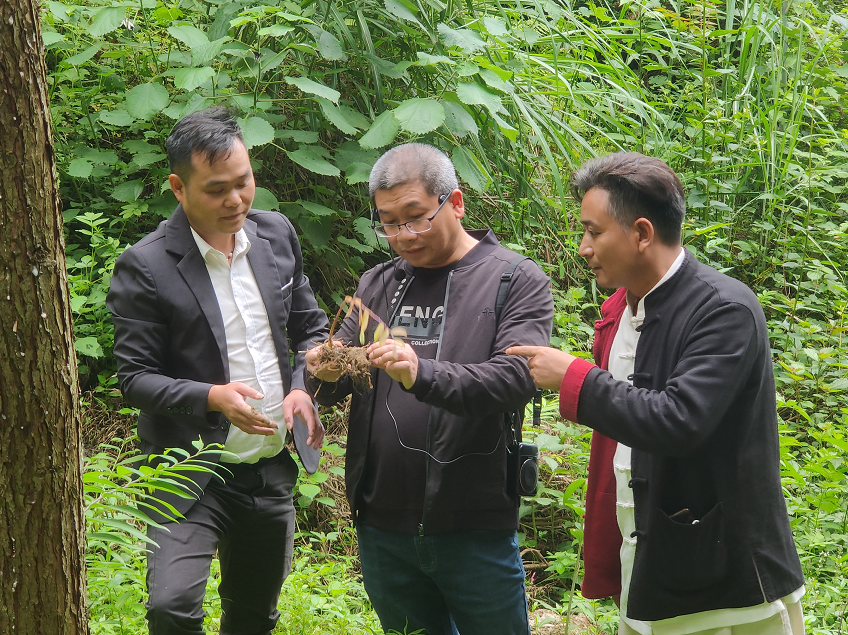
[[[250,210],[244,230],[248,262],[259,286],[286,393],[305,389],[303,351],[327,337],[327,316],[303,275],[300,245],[288,219]],[[230,423],[206,411],[213,384],[229,382],[224,322],[212,281],[178,206],[118,258],[106,304],[115,325],[115,358],[124,398],[140,408],[138,435],[145,453],[226,441]],[[209,473],[191,476],[202,488]],[[160,496],[185,513],[194,499]]]

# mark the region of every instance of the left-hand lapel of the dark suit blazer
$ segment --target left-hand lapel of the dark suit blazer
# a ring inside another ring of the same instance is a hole
[[[215,336],[215,343],[218,345],[224,376],[226,381],[229,382],[230,363],[227,355],[224,318],[221,316],[221,307],[218,306],[218,298],[215,295],[212,280],[209,278],[209,271],[206,269],[206,263],[200,255],[194,236],[191,234],[191,227],[188,224],[185,212],[183,212],[182,205],[178,205],[171,218],[168,219],[165,230],[165,249],[170,253],[181,256],[181,260],[177,263],[177,271],[180,272],[183,280],[191,289],[200,305],[200,310],[209,323],[209,328]]]

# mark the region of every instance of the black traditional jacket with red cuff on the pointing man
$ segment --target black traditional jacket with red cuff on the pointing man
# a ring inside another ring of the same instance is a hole
[[[771,347],[748,287],[686,254],[645,299],[633,385],[586,375],[578,421],[633,449],[627,615],[755,606],[804,583],[780,484]],[[698,523],[671,518],[687,508]]]

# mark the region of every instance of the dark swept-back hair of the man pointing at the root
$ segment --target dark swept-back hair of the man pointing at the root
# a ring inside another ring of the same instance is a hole
[[[647,218],[666,245],[679,245],[686,199],[680,178],[660,159],[638,152],[617,152],[584,163],[571,176],[578,201],[593,187],[609,193],[607,213],[622,227]]]

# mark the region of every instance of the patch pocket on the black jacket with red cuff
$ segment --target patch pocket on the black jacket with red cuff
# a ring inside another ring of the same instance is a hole
[[[724,510],[718,503],[700,520],[679,523],[654,509],[645,536],[646,567],[656,583],[670,591],[698,591],[727,575]]]

